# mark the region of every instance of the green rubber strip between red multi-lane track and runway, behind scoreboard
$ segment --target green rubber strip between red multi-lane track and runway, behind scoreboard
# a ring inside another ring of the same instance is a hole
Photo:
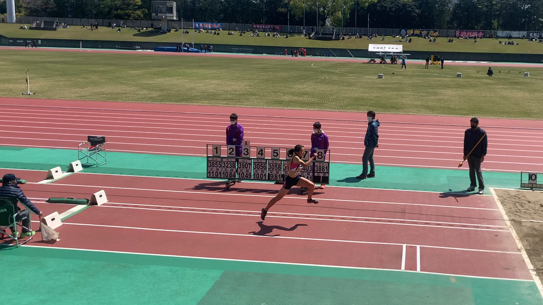
[[[4,149],[7,148],[7,149]],[[49,170],[77,160],[77,150],[0,147],[3,157],[1,168]],[[47,163],[40,163],[45,161]],[[466,169],[431,169],[415,167],[376,166],[376,177],[356,179],[362,165],[331,163],[330,185],[430,192],[453,192],[469,186]],[[151,177],[176,177],[206,179],[206,158],[134,153],[108,153],[108,163],[100,167],[85,168],[85,173],[135,175]],[[498,188],[519,188],[520,175],[483,171],[485,185]],[[24,178],[24,177],[23,177]]]

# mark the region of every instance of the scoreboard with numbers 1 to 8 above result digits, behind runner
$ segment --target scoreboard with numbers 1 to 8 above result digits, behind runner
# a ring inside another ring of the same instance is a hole
[[[249,141],[242,145],[241,156],[236,155],[235,145],[207,144],[207,177],[227,179],[227,188],[230,181],[260,180],[282,181],[288,173],[287,163],[292,160],[288,154],[291,148],[250,146]],[[302,160],[310,158],[310,148],[302,156]],[[315,150],[317,157],[300,172],[302,177],[315,183],[327,184],[330,182],[330,150]]]

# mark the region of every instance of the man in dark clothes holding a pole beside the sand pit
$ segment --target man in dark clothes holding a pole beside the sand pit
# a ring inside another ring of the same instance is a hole
[[[477,186],[475,176],[477,175],[477,180],[479,182],[479,194],[483,194],[484,181],[483,172],[481,171],[481,163],[484,161],[484,156],[487,155],[488,136],[486,131],[479,128],[479,120],[477,118],[472,118],[470,123],[471,128],[466,129],[464,132],[464,160],[466,160],[466,156],[469,154],[468,164],[470,167],[471,181],[468,192],[475,190],[475,187]]]

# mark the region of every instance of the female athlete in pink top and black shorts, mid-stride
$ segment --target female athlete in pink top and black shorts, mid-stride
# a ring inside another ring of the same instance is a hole
[[[302,145],[296,145],[293,149],[288,151],[289,154],[293,154],[292,160],[287,163],[288,167],[288,174],[285,175],[285,184],[283,187],[279,190],[279,193],[270,200],[268,203],[268,206],[266,208],[262,209],[262,212],[260,214],[260,218],[264,220],[266,218],[266,214],[268,214],[268,210],[271,206],[275,205],[275,203],[281,198],[283,198],[287,193],[288,190],[291,189],[293,186],[299,186],[299,187],[305,187],[307,188],[307,203],[308,204],[318,204],[318,200],[311,199],[311,196],[313,195],[313,190],[315,189],[315,183],[305,179],[304,177],[300,177],[300,171],[302,170],[302,167],[308,167],[311,162],[313,162],[313,159],[315,156],[311,157],[310,160],[307,162],[304,162],[301,160],[301,157],[305,154],[305,149]],[[300,167],[301,166],[301,167]]]

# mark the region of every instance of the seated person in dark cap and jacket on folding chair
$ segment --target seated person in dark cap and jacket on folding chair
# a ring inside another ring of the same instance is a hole
[[[18,201],[20,201],[24,206],[28,207],[30,211],[34,212],[36,215],[39,215],[41,217],[43,214],[42,212],[30,202],[30,200],[23,194],[23,190],[17,186],[17,180],[21,180],[21,178],[17,178],[14,174],[5,174],[2,177],[2,186],[0,187],[0,198],[16,198]],[[21,208],[17,206],[17,203],[14,204],[14,211],[15,211],[15,220],[20,221],[21,218],[26,217],[26,219],[23,219],[23,226],[30,227],[30,211],[28,209],[24,209],[21,211]],[[17,227],[13,226],[11,227],[11,232],[14,237],[17,237]],[[21,237],[31,236],[34,235],[35,232],[29,232],[28,230],[24,229],[21,231]]]

